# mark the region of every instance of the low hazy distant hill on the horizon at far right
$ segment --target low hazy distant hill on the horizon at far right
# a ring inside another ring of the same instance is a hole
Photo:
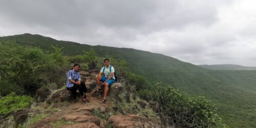
[[[212,70],[256,70],[256,67],[245,67],[240,65],[198,65],[205,69]]]

